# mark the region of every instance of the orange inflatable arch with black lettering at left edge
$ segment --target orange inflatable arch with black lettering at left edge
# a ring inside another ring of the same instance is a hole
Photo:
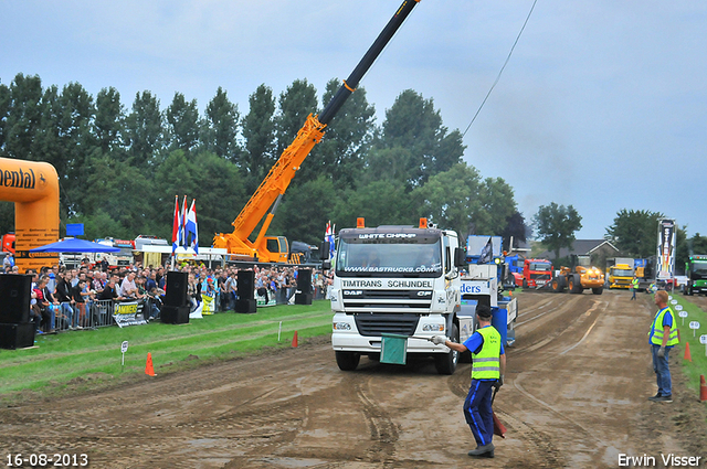
[[[14,202],[14,263],[20,274],[59,263],[30,249],[59,241],[59,175],[42,161],[0,158],[0,200]]]

